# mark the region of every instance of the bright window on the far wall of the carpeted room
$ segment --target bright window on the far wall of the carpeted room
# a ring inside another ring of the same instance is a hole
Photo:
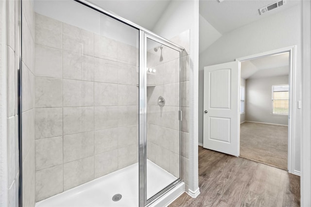
[[[272,86],[272,114],[288,115],[288,85]]]

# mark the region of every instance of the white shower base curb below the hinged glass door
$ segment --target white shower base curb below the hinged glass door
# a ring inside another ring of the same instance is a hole
[[[177,184],[172,190],[166,192],[162,196],[160,196],[158,199],[155,200],[155,202],[147,205],[147,207],[167,207],[171,203],[173,203],[174,200],[176,200],[181,194],[185,192],[185,183],[181,182]]]

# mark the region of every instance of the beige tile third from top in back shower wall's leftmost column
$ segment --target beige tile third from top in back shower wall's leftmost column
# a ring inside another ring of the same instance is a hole
[[[35,77],[35,107],[62,107],[63,80]]]

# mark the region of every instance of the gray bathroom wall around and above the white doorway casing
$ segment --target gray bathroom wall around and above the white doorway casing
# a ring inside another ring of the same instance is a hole
[[[301,100],[301,5],[228,32],[199,57],[199,143],[203,142],[204,66],[234,61],[278,48],[297,46],[294,103]],[[294,169],[300,172],[301,110],[295,108]]]

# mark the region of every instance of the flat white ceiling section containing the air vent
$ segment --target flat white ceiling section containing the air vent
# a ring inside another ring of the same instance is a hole
[[[221,34],[225,34],[261,18],[274,15],[299,4],[298,0],[287,2],[274,10],[259,15],[259,8],[277,0],[200,0],[200,14]]]

